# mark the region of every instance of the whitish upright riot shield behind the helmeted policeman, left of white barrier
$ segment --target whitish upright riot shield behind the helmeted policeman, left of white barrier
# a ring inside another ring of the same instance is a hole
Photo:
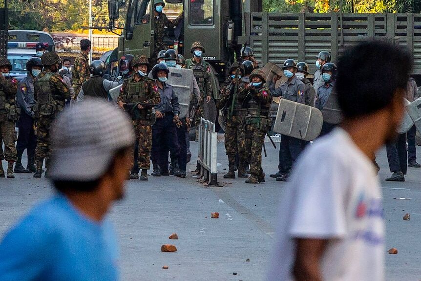
[[[173,86],[174,93],[180,103],[179,118],[186,118],[189,114],[191,97],[190,86],[193,83],[193,70],[186,68],[170,67],[167,84]]]

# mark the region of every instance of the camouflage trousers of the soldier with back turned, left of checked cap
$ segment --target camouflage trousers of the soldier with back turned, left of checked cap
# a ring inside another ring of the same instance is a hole
[[[35,148],[35,160],[43,161],[44,158],[50,158],[50,127],[54,121],[53,115],[47,117],[40,117],[36,120],[37,124],[37,147]]]

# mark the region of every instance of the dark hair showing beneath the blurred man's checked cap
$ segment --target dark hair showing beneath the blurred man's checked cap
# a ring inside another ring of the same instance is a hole
[[[73,192],[92,192],[95,191],[101,179],[107,173],[113,173],[113,169],[115,168],[116,158],[124,156],[124,154],[130,148],[123,148],[115,152],[113,160],[108,165],[105,173],[103,173],[99,178],[91,180],[91,181],[76,181],[76,180],[53,180],[54,188],[64,194],[68,193],[69,191]]]

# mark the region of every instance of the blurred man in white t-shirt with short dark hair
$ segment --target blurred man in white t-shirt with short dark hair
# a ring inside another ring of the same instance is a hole
[[[370,159],[396,137],[411,66],[407,52],[380,42],[361,43],[340,58],[344,121],[296,163],[280,204],[268,281],[384,280],[382,195]]]

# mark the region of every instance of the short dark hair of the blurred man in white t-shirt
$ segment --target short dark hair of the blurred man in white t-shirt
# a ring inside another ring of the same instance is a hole
[[[372,41],[346,49],[337,64],[336,90],[344,117],[356,118],[388,107],[405,89],[412,56],[402,47]]]

